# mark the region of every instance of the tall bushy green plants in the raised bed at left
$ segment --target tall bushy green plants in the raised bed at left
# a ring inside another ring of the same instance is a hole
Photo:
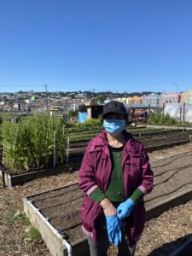
[[[20,169],[39,169],[49,165],[53,158],[54,132],[56,133],[57,163],[64,162],[66,135],[64,122],[48,113],[35,114],[19,123],[3,121],[3,163],[14,172]]]

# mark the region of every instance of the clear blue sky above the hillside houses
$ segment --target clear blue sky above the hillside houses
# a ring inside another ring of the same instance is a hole
[[[0,0],[0,91],[192,89],[191,0]]]

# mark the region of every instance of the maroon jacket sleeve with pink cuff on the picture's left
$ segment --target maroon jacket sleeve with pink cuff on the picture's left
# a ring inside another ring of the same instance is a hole
[[[90,195],[98,186],[95,179],[95,155],[90,150],[91,141],[88,144],[82,164],[79,169],[79,189]]]

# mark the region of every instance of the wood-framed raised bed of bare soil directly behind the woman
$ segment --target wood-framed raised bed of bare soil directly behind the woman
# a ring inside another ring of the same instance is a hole
[[[154,190],[146,195],[147,218],[158,216],[192,198],[192,151],[152,162]],[[55,233],[59,232],[73,246],[73,255],[89,255],[81,230],[79,209],[83,199],[78,184],[31,195],[24,199],[26,215],[40,230],[52,255],[67,255],[67,248]],[[39,210],[38,210],[39,209]],[[38,212],[38,213],[37,213]],[[42,215],[44,218],[39,218]],[[54,231],[44,224],[49,219]],[[81,251],[84,249],[84,251]]]

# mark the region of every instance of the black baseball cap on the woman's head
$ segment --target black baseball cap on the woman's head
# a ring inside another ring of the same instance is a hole
[[[119,113],[126,116],[126,109],[122,102],[112,101],[106,103],[102,108],[102,117],[107,113]]]

